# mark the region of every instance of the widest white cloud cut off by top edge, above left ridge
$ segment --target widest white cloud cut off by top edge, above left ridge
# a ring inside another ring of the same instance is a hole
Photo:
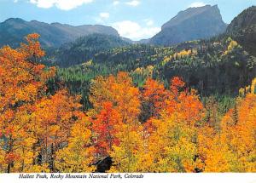
[[[30,0],[30,3],[36,4],[39,8],[49,9],[55,6],[58,9],[75,9],[85,3],[92,3],[94,0]]]

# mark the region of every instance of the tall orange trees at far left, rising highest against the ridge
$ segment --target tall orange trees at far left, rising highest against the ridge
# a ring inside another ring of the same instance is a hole
[[[38,37],[28,35],[18,49],[0,49],[1,172],[55,171],[55,152],[67,143],[73,123],[84,117],[79,97],[66,90],[46,94],[55,67],[38,64],[44,56]]]

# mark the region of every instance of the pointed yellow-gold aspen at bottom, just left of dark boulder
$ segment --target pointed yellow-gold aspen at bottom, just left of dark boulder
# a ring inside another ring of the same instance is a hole
[[[55,167],[58,171],[68,173],[92,172],[93,146],[90,142],[88,119],[75,123],[68,138],[68,144],[56,152]]]

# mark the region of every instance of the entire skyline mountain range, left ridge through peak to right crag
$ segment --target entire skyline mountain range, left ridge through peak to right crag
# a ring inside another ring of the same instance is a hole
[[[172,46],[226,33],[234,37],[251,54],[256,55],[255,12],[255,6],[244,10],[228,26],[222,20],[218,5],[189,8],[180,11],[175,17],[167,21],[154,37],[140,41],[132,41],[126,37],[120,38],[127,43]],[[24,42],[23,37],[33,32],[41,35],[39,41],[44,48],[60,48],[65,43],[72,43],[79,37],[86,37],[95,33],[119,37],[119,32],[111,26],[70,26],[61,23],[48,24],[37,20],[26,21],[10,18],[0,23],[0,47],[6,44],[18,47],[21,42]]]

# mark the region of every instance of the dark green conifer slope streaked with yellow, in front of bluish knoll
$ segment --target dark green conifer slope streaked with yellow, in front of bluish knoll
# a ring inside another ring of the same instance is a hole
[[[182,43],[177,47],[135,44],[102,51],[79,66],[60,68],[55,80],[64,81],[74,94],[83,94],[87,108],[90,80],[118,71],[128,71],[138,87],[148,77],[168,87],[170,79],[178,76],[201,96],[234,97],[238,89],[255,77],[256,59],[230,37]]]

